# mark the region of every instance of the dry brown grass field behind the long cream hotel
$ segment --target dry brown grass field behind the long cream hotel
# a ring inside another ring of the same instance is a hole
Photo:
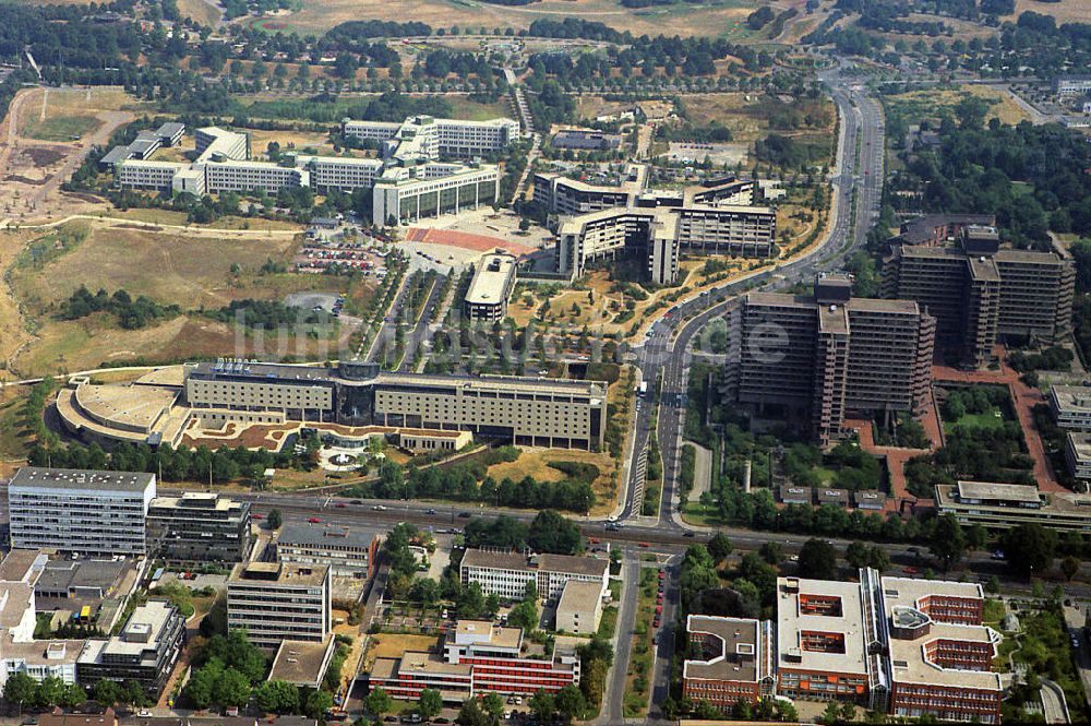
[[[346,281],[329,275],[259,274],[267,259],[288,263],[298,246],[289,236],[224,239],[79,224],[91,231],[70,250],[40,263],[31,263],[23,253],[11,267],[11,289],[22,306],[22,317],[2,317],[11,322],[0,326],[0,350],[21,374],[81,370],[136,358],[325,357],[351,332],[343,325],[316,338],[240,337],[228,324],[187,314],[140,330],[118,328],[108,313],[58,320],[61,302],[80,285],[92,291],[125,289],[133,297],[146,295],[161,305],[177,305],[183,313],[216,309],[235,299],[283,299],[298,290],[346,291]],[[37,238],[41,237],[38,233]],[[25,231],[0,237],[0,262],[11,264],[34,239]],[[238,274],[232,274],[232,264],[240,266]],[[95,274],[88,276],[88,270]],[[370,287],[371,283],[360,285]],[[14,304],[0,297],[0,312],[5,305]]]

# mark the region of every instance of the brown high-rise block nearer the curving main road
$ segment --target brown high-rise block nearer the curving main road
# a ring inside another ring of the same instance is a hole
[[[912,410],[927,395],[935,321],[916,302],[853,298],[848,277],[826,275],[813,296],[751,293],[734,314],[739,401],[805,417],[823,444],[847,410]]]

